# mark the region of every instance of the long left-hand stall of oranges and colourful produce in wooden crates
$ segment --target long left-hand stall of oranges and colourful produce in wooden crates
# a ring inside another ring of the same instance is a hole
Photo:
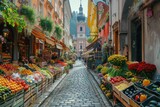
[[[71,63],[58,61],[40,68],[36,64],[0,65],[0,107],[28,107],[59,78]]]

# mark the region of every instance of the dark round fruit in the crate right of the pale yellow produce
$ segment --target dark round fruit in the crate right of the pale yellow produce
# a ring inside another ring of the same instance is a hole
[[[128,96],[129,98],[132,98],[133,95],[135,95],[137,92],[139,92],[140,89],[136,88],[134,85],[128,87],[127,89],[123,90],[123,93]]]

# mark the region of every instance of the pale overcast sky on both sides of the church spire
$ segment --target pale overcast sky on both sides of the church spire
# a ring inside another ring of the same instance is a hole
[[[71,11],[78,11],[80,6],[80,0],[69,0],[71,5]],[[88,13],[88,0],[82,0],[83,13],[87,17]]]

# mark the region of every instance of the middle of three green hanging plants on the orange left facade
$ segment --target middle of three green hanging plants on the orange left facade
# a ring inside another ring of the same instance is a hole
[[[53,29],[53,22],[48,18],[41,18],[40,26],[42,27],[43,31],[48,31],[50,33]]]

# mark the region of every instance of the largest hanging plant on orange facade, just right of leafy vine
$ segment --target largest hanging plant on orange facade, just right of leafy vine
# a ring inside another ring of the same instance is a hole
[[[27,21],[31,24],[35,23],[35,12],[30,6],[23,5],[20,10],[21,15],[24,15]]]

